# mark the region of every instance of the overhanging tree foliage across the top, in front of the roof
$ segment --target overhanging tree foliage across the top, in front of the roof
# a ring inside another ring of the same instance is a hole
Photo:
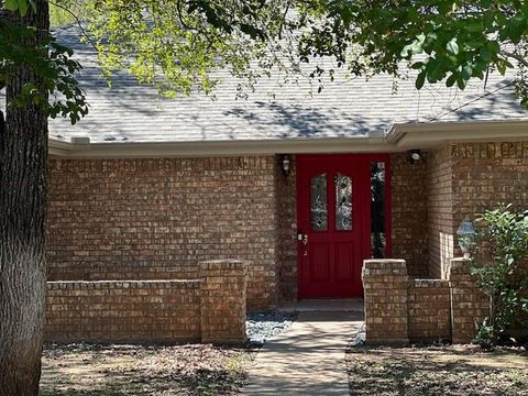
[[[82,16],[106,75],[128,69],[168,97],[212,94],[218,68],[253,87],[271,69],[296,79],[416,72],[416,87],[443,81],[464,89],[472,78],[514,70],[528,106],[528,4],[524,1],[87,0]],[[26,12],[32,0],[3,0]],[[57,0],[76,10],[75,0]],[[333,58],[328,66],[322,58]],[[245,80],[245,81],[244,81]],[[241,89],[241,87],[239,87]]]

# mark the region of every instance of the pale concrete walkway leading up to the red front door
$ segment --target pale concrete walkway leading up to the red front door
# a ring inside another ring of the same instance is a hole
[[[256,355],[243,395],[350,395],[344,350],[363,324],[363,311],[361,302],[345,304],[346,311],[338,310],[341,306],[333,301],[326,310],[324,302],[296,307],[299,314],[292,328]]]

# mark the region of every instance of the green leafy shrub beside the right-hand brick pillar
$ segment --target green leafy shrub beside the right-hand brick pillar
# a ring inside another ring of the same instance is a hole
[[[476,341],[495,344],[518,319],[528,314],[528,282],[519,277],[519,264],[528,260],[528,210],[515,213],[510,206],[487,210],[479,219],[483,227],[472,274],[490,299],[490,315],[481,324]]]

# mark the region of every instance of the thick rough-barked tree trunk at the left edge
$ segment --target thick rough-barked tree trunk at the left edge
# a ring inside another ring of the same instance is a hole
[[[36,26],[36,44],[48,30],[47,1],[37,0],[36,12],[24,18],[10,18]],[[6,87],[7,101],[26,82],[40,81],[29,67],[19,67]],[[38,393],[41,377],[47,119],[35,105],[8,107],[6,114],[0,122],[0,396],[25,396]]]

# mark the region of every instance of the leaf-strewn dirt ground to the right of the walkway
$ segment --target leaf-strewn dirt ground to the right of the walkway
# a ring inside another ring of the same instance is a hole
[[[527,395],[522,348],[483,351],[475,345],[350,348],[351,395]]]

